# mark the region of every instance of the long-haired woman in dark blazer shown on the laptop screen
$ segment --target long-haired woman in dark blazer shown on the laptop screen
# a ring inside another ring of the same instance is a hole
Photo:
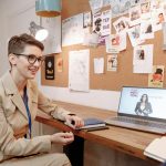
[[[152,105],[148,102],[148,96],[147,94],[143,94],[141,97],[141,102],[137,102],[136,107],[135,107],[135,113],[137,115],[143,115],[143,116],[148,116],[153,112]]]

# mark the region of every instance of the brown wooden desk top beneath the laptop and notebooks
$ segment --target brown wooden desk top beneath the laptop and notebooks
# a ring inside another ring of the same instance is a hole
[[[112,112],[112,111],[105,111],[105,110],[63,103],[63,102],[56,102],[56,103],[60,106],[63,106],[64,108],[69,110],[72,113],[75,113],[81,117],[100,117],[102,120],[105,120],[110,116],[116,115],[116,112]],[[138,132],[138,131],[127,129],[127,128],[122,128],[116,126],[108,126],[110,129],[93,131],[93,132],[74,131],[69,126],[64,125],[62,122],[58,120],[53,120],[52,117],[45,114],[38,115],[37,121],[53,126],[60,131],[72,131],[75,135],[83,137],[84,139],[89,139],[98,143],[101,145],[105,145],[111,148],[147,160],[153,160],[153,159],[149,159],[148,157],[144,156],[143,152],[145,147],[154,138],[160,137],[160,135],[157,134]]]

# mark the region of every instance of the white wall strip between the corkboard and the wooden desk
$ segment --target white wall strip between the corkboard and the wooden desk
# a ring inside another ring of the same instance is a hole
[[[91,90],[90,93],[70,92],[64,87],[41,89],[51,98],[92,107],[116,111],[118,106],[120,93],[115,91]]]

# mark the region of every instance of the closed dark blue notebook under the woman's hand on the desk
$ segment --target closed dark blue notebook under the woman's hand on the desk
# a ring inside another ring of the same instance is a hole
[[[87,128],[97,128],[98,129],[104,129],[104,126],[106,125],[104,121],[95,118],[95,117],[89,117],[89,118],[84,118],[84,126],[82,127],[77,127],[75,128],[74,123],[73,122],[65,122],[65,124],[74,129],[87,129]]]

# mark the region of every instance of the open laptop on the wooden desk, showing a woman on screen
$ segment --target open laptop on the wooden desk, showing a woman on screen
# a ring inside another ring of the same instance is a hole
[[[116,117],[106,124],[156,134],[166,133],[166,89],[123,86]]]

